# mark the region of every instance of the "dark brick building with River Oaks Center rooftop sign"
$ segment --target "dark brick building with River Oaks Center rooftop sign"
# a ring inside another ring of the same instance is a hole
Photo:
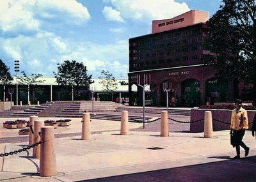
[[[205,104],[207,97],[216,102],[234,100],[239,82],[214,78],[215,70],[203,64],[209,57],[204,49],[208,13],[191,10],[173,19],[154,20],[152,33],[129,39],[129,97],[141,104],[142,88],[138,75],[150,75],[150,91],[146,99],[154,105],[165,105],[163,82],[172,83],[170,97],[179,106]],[[135,93],[135,90],[138,93]]]

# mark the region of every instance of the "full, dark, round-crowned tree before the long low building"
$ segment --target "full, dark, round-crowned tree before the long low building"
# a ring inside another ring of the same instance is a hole
[[[56,82],[61,86],[72,87],[72,100],[73,93],[75,91],[76,96],[79,95],[81,87],[88,89],[90,84],[93,83],[92,75],[87,74],[87,68],[83,63],[77,63],[77,61],[64,61],[64,63],[58,64],[58,72],[53,72],[56,78]]]

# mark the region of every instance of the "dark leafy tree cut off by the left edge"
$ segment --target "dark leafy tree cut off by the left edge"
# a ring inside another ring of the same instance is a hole
[[[11,84],[13,78],[10,73],[10,68],[4,64],[4,62],[0,59],[0,84],[3,84],[4,87],[4,97],[3,100],[5,100],[5,85]]]

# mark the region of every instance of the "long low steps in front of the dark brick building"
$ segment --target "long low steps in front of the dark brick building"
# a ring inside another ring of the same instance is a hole
[[[143,108],[142,107],[117,107],[115,112],[121,112],[122,110],[127,110],[129,113],[142,113]],[[161,114],[163,110],[166,110],[166,108],[157,108],[157,107],[145,107],[145,113],[146,114]],[[168,110],[168,114],[172,115],[184,115],[184,116],[190,116],[191,109],[170,109]]]

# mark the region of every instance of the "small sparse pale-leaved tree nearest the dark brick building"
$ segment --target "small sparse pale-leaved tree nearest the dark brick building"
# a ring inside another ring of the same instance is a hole
[[[113,77],[112,73],[109,73],[108,70],[102,70],[100,74],[100,84],[102,85],[103,90],[106,91],[106,95],[109,96],[117,89],[116,79]]]

